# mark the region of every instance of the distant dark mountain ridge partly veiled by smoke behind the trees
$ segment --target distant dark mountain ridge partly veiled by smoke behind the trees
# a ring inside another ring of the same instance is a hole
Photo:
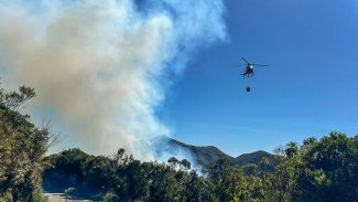
[[[219,158],[228,158],[234,164],[247,166],[250,163],[259,164],[262,158],[267,158],[271,164],[269,170],[278,164],[276,159],[272,153],[267,151],[254,151],[251,153],[243,153],[239,157],[230,157],[214,146],[192,146],[184,142],[172,139],[167,136],[159,136],[150,140],[153,148],[155,148],[155,155],[162,157],[164,153],[166,157],[174,156],[187,158],[191,157],[197,166],[208,167]],[[262,168],[261,168],[262,169]]]

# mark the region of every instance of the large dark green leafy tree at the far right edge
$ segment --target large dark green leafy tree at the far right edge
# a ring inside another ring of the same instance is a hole
[[[304,161],[315,174],[312,184],[322,193],[323,200],[358,201],[356,138],[333,131],[307,149]]]

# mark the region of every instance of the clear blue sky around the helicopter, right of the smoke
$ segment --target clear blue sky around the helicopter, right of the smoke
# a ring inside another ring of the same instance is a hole
[[[237,156],[332,130],[358,132],[358,2],[226,6],[229,39],[196,53],[160,110],[176,139]],[[242,79],[241,56],[270,67]]]

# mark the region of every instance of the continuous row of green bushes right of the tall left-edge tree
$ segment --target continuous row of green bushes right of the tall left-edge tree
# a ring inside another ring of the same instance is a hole
[[[358,138],[330,132],[302,146],[276,149],[273,171],[259,164],[235,166],[223,158],[203,176],[186,160],[140,162],[123,149],[112,158],[65,150],[47,160],[46,189],[76,188],[78,193],[115,201],[358,201]]]

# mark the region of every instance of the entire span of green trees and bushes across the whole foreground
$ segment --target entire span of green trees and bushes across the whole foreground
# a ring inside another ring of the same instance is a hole
[[[289,142],[275,150],[274,167],[268,158],[246,166],[219,158],[200,174],[185,159],[141,162],[123,149],[113,157],[79,149],[44,157],[55,140],[50,128],[18,111],[34,96],[24,86],[0,91],[0,201],[43,201],[41,184],[106,201],[358,201],[357,136]]]

